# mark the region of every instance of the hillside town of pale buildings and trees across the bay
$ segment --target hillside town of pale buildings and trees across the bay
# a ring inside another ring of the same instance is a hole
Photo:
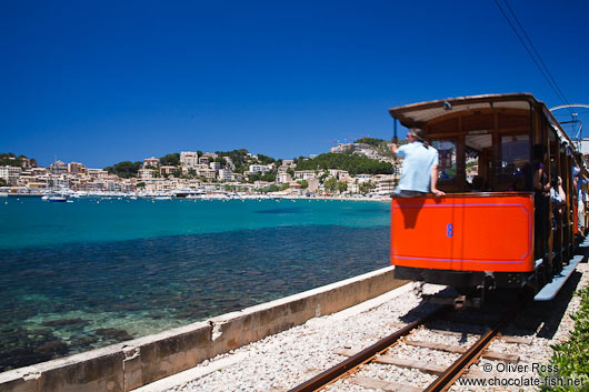
[[[190,197],[202,193],[270,194],[277,197],[385,195],[400,175],[400,162],[388,152],[388,143],[338,143],[329,153],[274,160],[247,150],[229,152],[181,151],[142,162],[120,162],[103,169],[82,162],[56,160],[47,168],[34,159],[2,154],[0,192],[4,194],[70,193],[78,195],[133,194],[139,197]],[[353,159],[378,163],[380,172],[358,172],[338,164],[309,168],[315,160]],[[333,165],[333,168],[331,168]]]

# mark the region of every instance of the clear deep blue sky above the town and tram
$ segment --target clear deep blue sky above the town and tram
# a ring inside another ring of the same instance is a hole
[[[568,101],[589,103],[589,2],[510,6]],[[239,148],[288,159],[390,139],[396,105],[562,103],[493,0],[6,0],[0,57],[0,152],[41,165]]]

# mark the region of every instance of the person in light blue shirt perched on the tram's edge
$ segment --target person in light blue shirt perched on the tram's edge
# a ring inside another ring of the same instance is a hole
[[[408,143],[398,145],[397,137],[392,140],[391,151],[403,159],[402,174],[395,190],[398,198],[423,197],[429,192],[435,197],[446,193],[436,188],[438,183],[438,151],[423,138],[423,130],[411,128],[407,132]]]

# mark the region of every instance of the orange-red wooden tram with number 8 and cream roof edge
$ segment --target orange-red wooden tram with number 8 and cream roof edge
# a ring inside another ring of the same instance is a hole
[[[439,152],[443,198],[393,198],[396,277],[455,287],[530,287],[536,292],[573,255],[577,195],[572,168],[588,171],[547,107],[528,93],[463,97],[390,109],[421,128]],[[532,147],[547,149],[548,179],[566,193],[560,212],[538,209],[529,189]],[[485,180],[476,189],[473,174]]]

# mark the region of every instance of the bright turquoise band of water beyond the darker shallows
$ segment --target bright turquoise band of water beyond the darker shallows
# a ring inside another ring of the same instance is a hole
[[[6,202],[6,204],[4,204]],[[340,200],[99,200],[49,203],[4,199],[0,249],[121,241],[277,227],[388,225],[388,203]]]

